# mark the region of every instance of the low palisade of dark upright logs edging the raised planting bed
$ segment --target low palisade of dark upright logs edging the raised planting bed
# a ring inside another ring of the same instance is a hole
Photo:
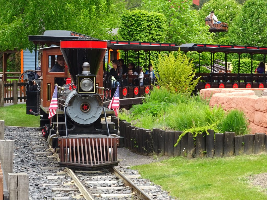
[[[112,117],[111,121],[117,128],[118,119]],[[267,136],[264,133],[235,136],[234,132],[215,133],[208,130],[209,134],[186,133],[178,145],[174,147],[182,131],[165,131],[161,129],[143,129],[131,126],[131,123],[121,120],[119,147],[129,148],[132,152],[142,155],[162,154],[165,156],[195,157],[229,157],[241,154],[259,154],[267,152]],[[266,141],[266,142],[265,142]]]

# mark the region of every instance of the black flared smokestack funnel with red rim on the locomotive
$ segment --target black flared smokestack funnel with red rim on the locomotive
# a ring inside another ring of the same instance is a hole
[[[107,50],[107,41],[104,40],[61,40],[60,50],[67,63],[74,84],[75,76],[83,71],[84,62],[90,64],[90,72],[97,74]]]

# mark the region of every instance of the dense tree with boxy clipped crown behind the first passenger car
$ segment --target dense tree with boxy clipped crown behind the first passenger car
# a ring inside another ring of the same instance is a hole
[[[118,34],[125,41],[163,42],[165,29],[166,18],[163,14],[133,10],[121,15]],[[139,64],[144,66],[145,52],[140,51],[139,54]],[[151,52],[151,59],[154,59],[157,55],[157,52]],[[120,52],[120,57],[124,58],[124,56],[125,53]],[[135,62],[134,51],[128,51],[128,61]]]

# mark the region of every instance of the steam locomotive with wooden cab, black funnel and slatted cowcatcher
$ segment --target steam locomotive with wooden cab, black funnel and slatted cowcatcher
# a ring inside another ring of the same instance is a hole
[[[107,122],[107,114],[112,115],[113,111],[103,107],[99,93],[104,87],[99,87],[97,80],[106,50],[107,41],[84,37],[61,40],[60,48],[39,50],[43,79],[37,91],[26,92],[27,114],[40,114],[44,136],[53,148],[59,149],[60,166],[94,170],[119,163],[120,137],[114,123]],[[65,71],[50,72],[51,61],[61,53],[66,62]],[[64,85],[55,84],[62,79],[66,80]],[[58,91],[58,109],[49,119],[54,85]]]

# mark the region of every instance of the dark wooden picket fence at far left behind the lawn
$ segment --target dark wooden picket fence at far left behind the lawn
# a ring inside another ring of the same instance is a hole
[[[26,100],[26,85],[27,83],[18,81],[0,81],[0,107],[4,103],[18,104]]]

